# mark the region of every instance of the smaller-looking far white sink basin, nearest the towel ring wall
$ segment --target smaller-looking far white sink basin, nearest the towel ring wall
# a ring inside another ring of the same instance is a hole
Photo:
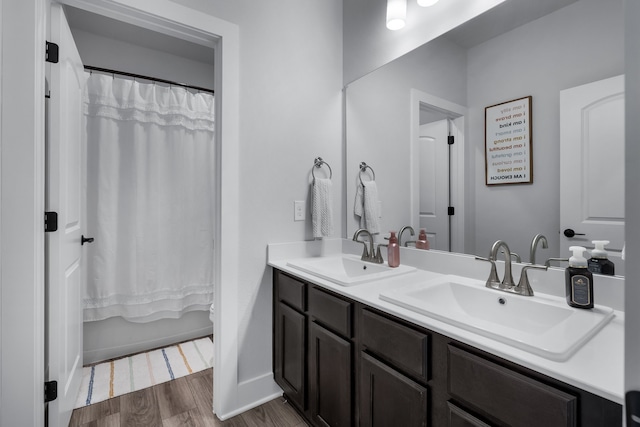
[[[334,255],[291,260],[287,265],[342,286],[386,279],[415,271],[414,267],[400,265],[391,268],[387,264],[374,264],[360,260],[356,255]]]

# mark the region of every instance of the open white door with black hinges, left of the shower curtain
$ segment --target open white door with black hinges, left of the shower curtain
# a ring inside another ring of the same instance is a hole
[[[51,41],[60,49],[51,64],[46,209],[58,213],[58,230],[46,233],[48,377],[58,382],[49,403],[49,426],[69,424],[82,377],[82,248],[84,148],[82,90],[85,73],[62,7],[51,5]]]

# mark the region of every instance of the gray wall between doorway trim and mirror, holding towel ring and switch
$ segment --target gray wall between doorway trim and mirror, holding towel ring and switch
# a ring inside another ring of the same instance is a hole
[[[244,384],[271,377],[266,248],[313,237],[309,215],[293,221],[293,202],[309,206],[317,156],[333,168],[335,235],[343,234],[342,1],[174,1],[240,30],[239,303],[237,319],[228,321],[238,322],[238,382]]]

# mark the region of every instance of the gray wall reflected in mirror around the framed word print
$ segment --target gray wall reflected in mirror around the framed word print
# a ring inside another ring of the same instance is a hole
[[[570,167],[559,160],[560,91],[623,74],[623,28],[622,0],[581,0],[469,50],[476,254],[487,255],[492,243],[503,239],[526,258],[536,233],[549,238],[549,252],[542,252],[559,253],[560,168]],[[528,95],[533,97],[534,182],[487,187],[484,108]],[[523,227],[528,239],[518,237]]]

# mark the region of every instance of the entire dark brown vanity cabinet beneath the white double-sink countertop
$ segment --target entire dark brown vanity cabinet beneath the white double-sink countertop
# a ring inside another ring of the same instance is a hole
[[[619,404],[277,270],[273,342],[314,426],[622,425]]]

